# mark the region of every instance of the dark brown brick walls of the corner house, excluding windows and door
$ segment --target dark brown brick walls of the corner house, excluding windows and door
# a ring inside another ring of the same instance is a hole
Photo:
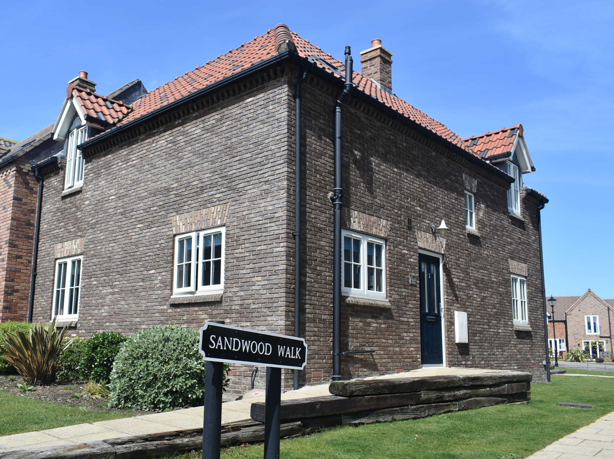
[[[292,69],[291,75],[297,74]],[[292,77],[278,77],[87,159],[82,192],[61,198],[63,170],[45,180],[35,318],[49,318],[55,244],[85,238],[75,334],[133,333],[155,324],[198,327],[209,318],[293,332],[294,101]],[[338,91],[311,77],[303,85],[303,382],[330,378],[332,366],[332,113]],[[216,96],[217,97],[217,96]],[[346,377],[420,366],[416,229],[443,213],[451,232],[444,257],[449,366],[527,369],[543,380],[543,320],[535,205],[510,218],[505,189],[433,152],[416,133],[344,108],[344,206],[389,222],[389,308],[343,307]],[[456,154],[453,154],[456,155]],[[456,157],[456,156],[455,156]],[[464,178],[478,180],[480,237],[464,227]],[[169,305],[171,217],[230,203],[225,291],[218,302]],[[407,218],[413,219],[412,228]],[[368,221],[377,227],[377,221]],[[513,331],[509,259],[529,268],[532,333]],[[470,343],[454,344],[454,310],[469,315]],[[541,328],[541,332],[540,332]],[[231,390],[249,389],[237,366]],[[291,372],[284,372],[290,387]],[[263,372],[256,386],[263,387]]]

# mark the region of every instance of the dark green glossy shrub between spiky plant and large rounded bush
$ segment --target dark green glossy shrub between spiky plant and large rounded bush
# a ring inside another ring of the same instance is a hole
[[[81,365],[84,371],[83,379],[108,383],[115,356],[125,340],[126,337],[117,332],[106,331],[91,335],[85,342]]]

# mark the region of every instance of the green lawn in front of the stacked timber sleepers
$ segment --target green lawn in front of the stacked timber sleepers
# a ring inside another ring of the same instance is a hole
[[[614,411],[614,379],[553,375],[531,387],[528,405],[500,405],[410,421],[344,426],[281,442],[284,459],[527,457]],[[557,402],[594,404],[593,409]],[[262,445],[230,448],[223,458],[262,458]],[[518,455],[518,456],[515,456]],[[196,455],[176,455],[196,458]]]

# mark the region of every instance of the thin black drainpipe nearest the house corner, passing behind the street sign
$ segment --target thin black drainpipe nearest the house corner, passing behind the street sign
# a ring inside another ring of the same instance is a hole
[[[294,182],[294,335],[301,335],[301,85],[307,71],[298,78],[294,91],[296,103],[296,153]],[[298,370],[294,371],[294,390],[298,389]]]

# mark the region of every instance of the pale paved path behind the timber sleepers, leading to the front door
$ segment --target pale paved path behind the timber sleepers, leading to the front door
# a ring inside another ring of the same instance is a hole
[[[370,379],[390,379],[425,377],[435,375],[461,375],[494,373],[497,370],[474,368],[441,368],[429,367],[403,373],[377,376]],[[282,394],[282,400],[330,395],[328,383],[317,386],[305,386],[299,390]],[[265,401],[264,396],[251,397],[244,400],[224,402],[222,404],[222,424],[249,420],[253,402]],[[86,441],[107,440],[111,438],[133,435],[153,434],[174,430],[190,430],[203,428],[204,407],[198,406],[164,413],[153,413],[131,418],[114,419],[73,426],[58,427],[38,432],[28,432],[0,437],[0,452],[31,449],[45,446],[82,443]]]

